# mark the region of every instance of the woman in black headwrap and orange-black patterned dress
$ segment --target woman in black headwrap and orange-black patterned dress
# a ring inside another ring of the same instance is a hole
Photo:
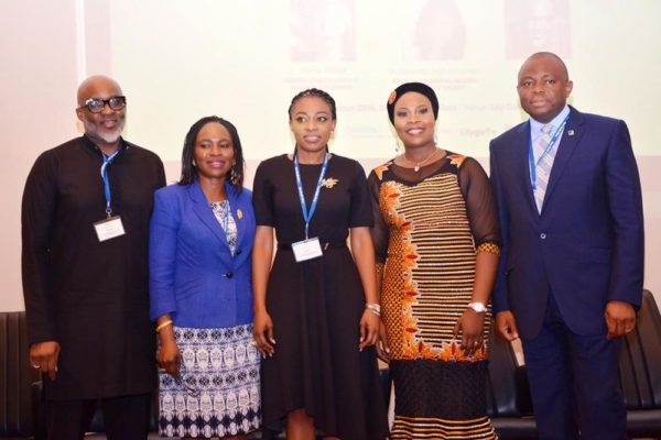
[[[404,153],[375,168],[380,355],[394,382],[391,439],[495,439],[486,409],[489,296],[500,239],[488,177],[436,146],[438,100],[398,87],[388,114]]]

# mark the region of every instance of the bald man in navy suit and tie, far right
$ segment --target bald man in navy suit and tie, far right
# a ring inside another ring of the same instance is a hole
[[[502,229],[492,301],[521,338],[542,439],[626,439],[620,337],[643,278],[640,180],[624,121],[566,105],[573,82],[551,53],[519,70],[525,121],[491,141]]]

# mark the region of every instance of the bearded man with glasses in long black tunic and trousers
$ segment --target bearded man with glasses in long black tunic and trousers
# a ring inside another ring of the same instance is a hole
[[[156,385],[148,227],[163,164],[121,138],[115,80],[86,79],[76,114],[85,135],[41,154],[23,193],[30,362],[50,439],[82,439],[99,399],[109,439],[145,439]]]

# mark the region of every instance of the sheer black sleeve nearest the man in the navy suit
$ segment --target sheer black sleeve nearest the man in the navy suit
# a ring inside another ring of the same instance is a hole
[[[466,157],[459,168],[459,186],[478,252],[500,252],[498,211],[489,178],[481,165]]]

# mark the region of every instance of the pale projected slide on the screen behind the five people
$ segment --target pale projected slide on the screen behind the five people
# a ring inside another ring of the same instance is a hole
[[[519,66],[546,50],[567,62],[572,103],[626,119],[637,154],[655,154],[647,119],[655,102],[640,98],[648,86],[659,94],[644,74],[650,57],[659,74],[659,55],[640,47],[659,41],[660,4],[112,0],[111,70],[129,96],[128,136],[165,160],[178,158],[187,128],[207,114],[237,125],[250,160],[291,151],[286,109],[308,87],[337,101],[334,151],[390,157],[395,138],[386,100],[411,80],[438,95],[440,145],[486,156],[491,138],[524,119],[514,88]]]

